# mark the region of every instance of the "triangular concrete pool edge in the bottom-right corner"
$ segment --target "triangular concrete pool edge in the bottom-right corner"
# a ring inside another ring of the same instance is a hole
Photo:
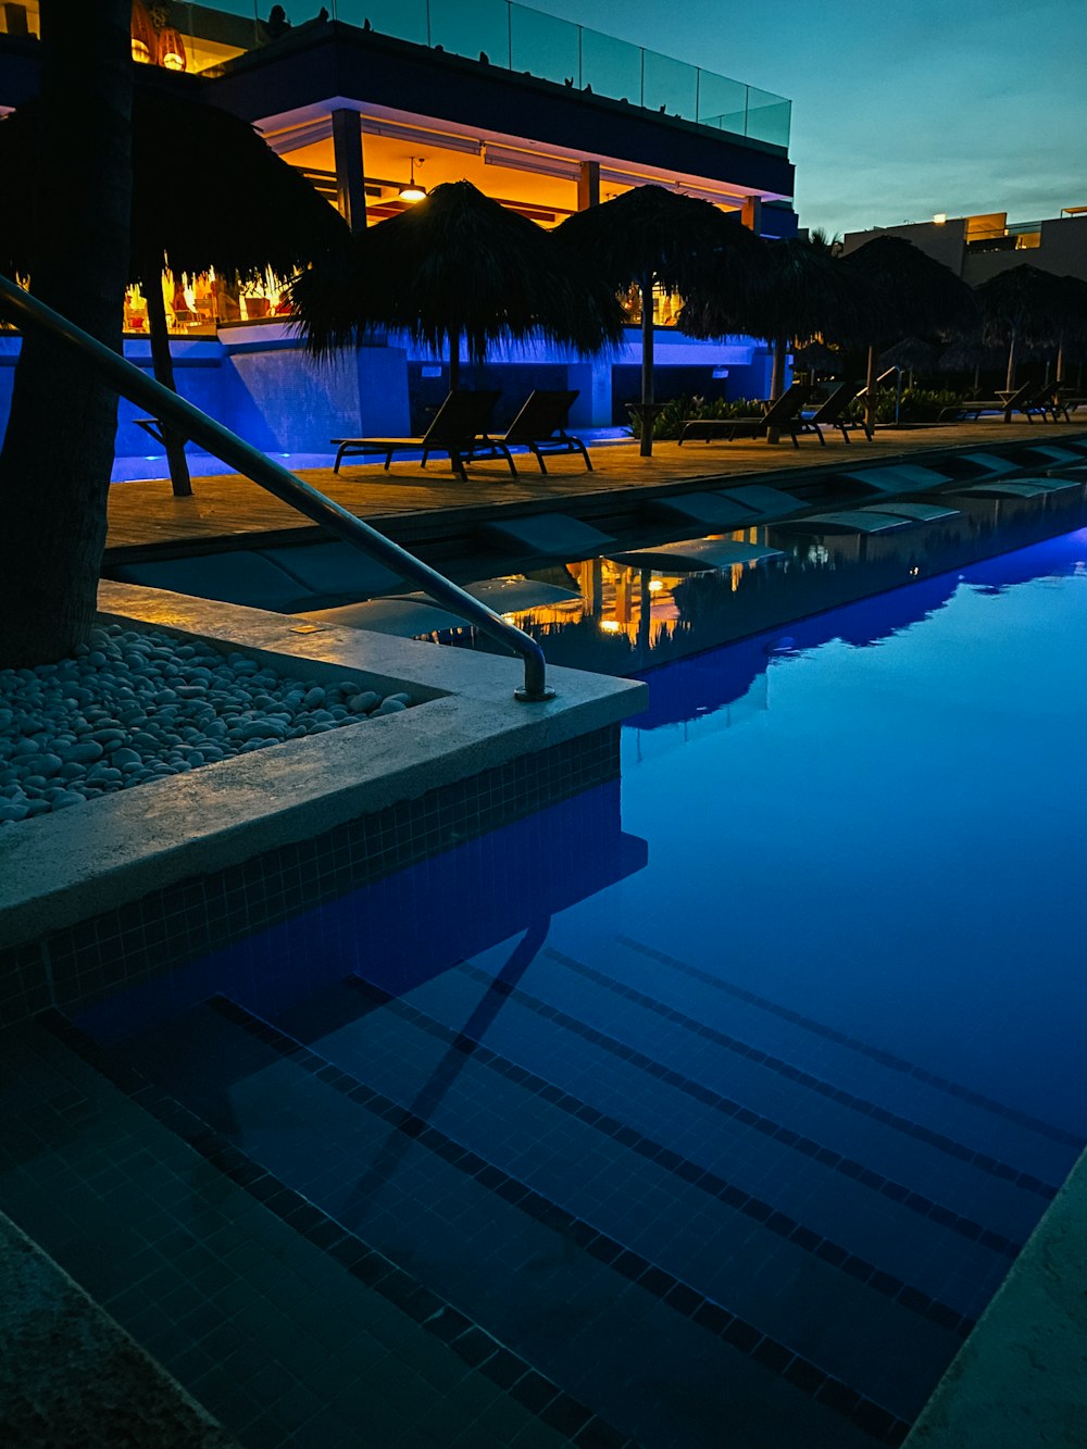
[[[906,1449],[1087,1443],[1087,1153],[941,1379]]]

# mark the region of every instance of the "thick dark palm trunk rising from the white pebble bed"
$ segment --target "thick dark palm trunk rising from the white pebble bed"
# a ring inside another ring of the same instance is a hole
[[[41,6],[33,293],[117,352],[129,261],[130,13],[130,0]],[[23,338],[0,451],[0,667],[54,662],[90,636],[116,425],[107,385],[48,339]]]

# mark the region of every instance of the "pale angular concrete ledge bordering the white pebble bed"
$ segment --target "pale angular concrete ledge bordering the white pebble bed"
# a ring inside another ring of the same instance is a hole
[[[646,701],[644,684],[554,669],[557,698],[520,704],[517,659],[336,626],[300,633],[290,616],[159,590],[103,584],[100,606],[112,622],[199,635],[315,682],[349,675],[426,703],[9,827],[0,948],[590,735]]]

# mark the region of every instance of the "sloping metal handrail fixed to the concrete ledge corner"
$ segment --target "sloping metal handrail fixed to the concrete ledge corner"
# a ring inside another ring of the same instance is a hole
[[[415,558],[399,543],[378,533],[362,519],[348,513],[339,503],[333,503],[317,488],[303,483],[288,468],[265,458],[262,452],[232,433],[229,427],[223,427],[207,413],[193,407],[184,397],[162,387],[155,378],[146,377],[138,367],[126,362],[123,356],[110,351],[97,338],[83,332],[81,327],[3,275],[0,275],[0,312],[17,322],[23,330],[43,332],[55,342],[65,343],[90,367],[96,368],[123,397],[145,407],[155,417],[172,423],[193,442],[200,443],[207,452],[259,484],[261,488],[267,488],[283,503],[297,509],[299,513],[335,533],[345,543],[370,554],[400,578],[416,584],[436,603],[445,604],[483,633],[519,653],[525,661],[525,684],[513,691],[516,698],[539,703],[555,697],[555,691],[546,682],[544,651],[523,629],[507,623],[501,614],[496,614],[487,604],[472,598],[471,594],[430,568],[429,564],[423,564],[422,559]]]

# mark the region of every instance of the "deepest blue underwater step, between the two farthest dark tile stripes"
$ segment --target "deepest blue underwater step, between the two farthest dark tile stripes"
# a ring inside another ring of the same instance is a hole
[[[971,1091],[962,1084],[903,1059],[880,1042],[836,1029],[791,1010],[772,994],[749,990],[729,977],[658,951],[628,936],[607,936],[593,949],[564,948],[562,955],[603,962],[617,981],[697,1016],[752,1046],[870,1097],[913,1122],[944,1132],[981,1153],[1009,1162],[1045,1184],[1061,1184],[1083,1140],[1059,1124]]]

